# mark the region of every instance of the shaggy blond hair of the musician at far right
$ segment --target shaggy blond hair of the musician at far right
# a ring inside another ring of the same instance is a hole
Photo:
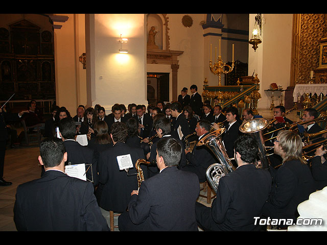
[[[278,145],[284,152],[283,163],[291,160],[299,160],[303,164],[307,162],[302,158],[301,137],[292,131],[281,130],[278,132]]]

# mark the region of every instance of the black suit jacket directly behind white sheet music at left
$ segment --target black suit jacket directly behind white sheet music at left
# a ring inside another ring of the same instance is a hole
[[[88,148],[87,146],[82,146],[80,143],[75,140],[65,140],[63,141],[66,152],[67,152],[67,161],[65,165],[74,165],[74,164],[92,164],[92,172],[90,169],[86,172],[86,178],[88,180],[93,180],[93,185],[96,186],[99,184],[99,176],[98,176],[98,163],[97,158],[94,154],[94,150]],[[88,168],[88,165],[85,166],[85,170]]]

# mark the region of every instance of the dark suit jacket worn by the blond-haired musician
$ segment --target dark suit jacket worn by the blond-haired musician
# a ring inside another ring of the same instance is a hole
[[[285,162],[277,169],[263,215],[296,219],[297,206],[308,200],[314,191],[314,180],[308,165],[299,160]]]

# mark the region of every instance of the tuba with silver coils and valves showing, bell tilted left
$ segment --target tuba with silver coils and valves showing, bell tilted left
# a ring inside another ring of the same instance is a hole
[[[217,192],[220,178],[234,170],[231,163],[233,158],[228,157],[221,140],[221,135],[225,132],[225,130],[225,128],[222,128],[209,133],[197,143],[197,146],[206,145],[220,161],[220,163],[211,164],[206,169],[205,173],[209,184],[215,192]]]

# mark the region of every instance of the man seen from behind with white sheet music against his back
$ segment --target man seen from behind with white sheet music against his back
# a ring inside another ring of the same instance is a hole
[[[99,157],[99,182],[104,185],[100,199],[100,207],[106,211],[123,212],[129,202],[130,193],[137,189],[135,163],[144,159],[144,152],[125,143],[127,126],[123,122],[114,122],[110,137],[113,147],[102,151]],[[118,156],[130,155],[133,167],[128,171],[120,170]],[[141,166],[147,178],[146,166]]]

